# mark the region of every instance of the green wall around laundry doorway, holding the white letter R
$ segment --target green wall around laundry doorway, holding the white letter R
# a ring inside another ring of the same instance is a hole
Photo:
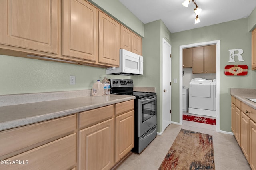
[[[231,97],[229,88],[255,88],[256,71],[251,70],[251,32],[248,32],[248,18],[224,22],[171,34],[172,77],[179,77],[179,46],[220,40],[220,130],[231,132]],[[244,62],[235,58],[229,63],[229,49],[243,49]],[[248,65],[246,76],[226,76],[226,65]],[[200,77],[200,74],[198,74]],[[179,81],[178,81],[179,82]],[[180,85],[172,86],[172,121],[179,122]]]

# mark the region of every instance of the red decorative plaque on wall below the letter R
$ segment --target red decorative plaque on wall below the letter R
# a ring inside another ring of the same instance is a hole
[[[247,65],[226,65],[225,75],[247,75]]]

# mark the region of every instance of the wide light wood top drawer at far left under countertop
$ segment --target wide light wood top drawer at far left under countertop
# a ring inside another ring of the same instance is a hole
[[[76,115],[2,131],[0,132],[0,158],[42,141],[63,137],[64,134],[74,130],[76,130]]]

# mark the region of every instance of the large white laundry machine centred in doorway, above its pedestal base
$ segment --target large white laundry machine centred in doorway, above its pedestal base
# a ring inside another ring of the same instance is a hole
[[[190,81],[189,108],[213,110],[212,80],[195,78]]]

